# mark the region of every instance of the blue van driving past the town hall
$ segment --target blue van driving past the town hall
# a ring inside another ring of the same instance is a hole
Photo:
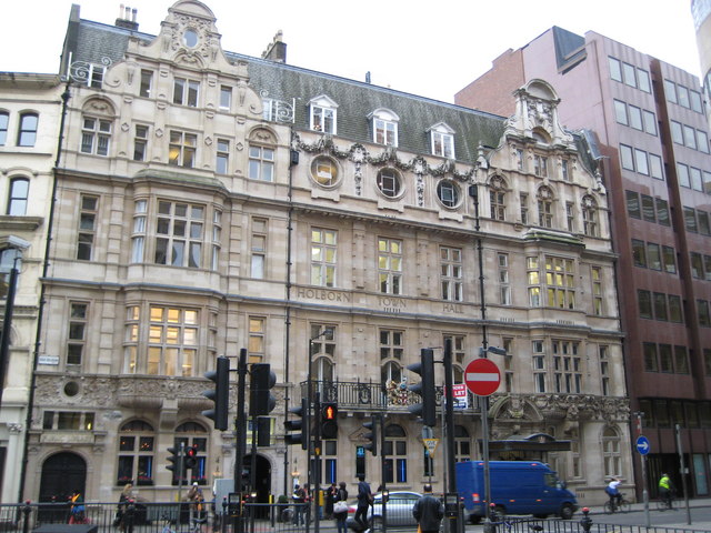
[[[539,461],[489,461],[491,501],[498,513],[557,514],[570,520],[578,510],[575,495],[555,472]],[[484,462],[457,463],[457,491],[472,523],[485,515]]]

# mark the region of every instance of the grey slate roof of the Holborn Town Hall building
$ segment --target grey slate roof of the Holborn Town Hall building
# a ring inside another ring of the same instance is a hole
[[[79,19],[78,7],[74,7],[77,10],[70,16],[64,41],[62,73],[67,70],[69,52],[72,62],[101,64],[103,58],[118,62],[123,59],[131,37],[147,42],[156,39],[148,33]],[[454,130],[457,161],[465,164],[475,161],[480,142],[484,147],[497,147],[504,130],[503,117],[483,111],[261,58],[227,51],[224,54],[230,61],[248,62],[249,84],[258,93],[288,103],[296,100],[297,130],[308,129],[309,100],[321,94],[338,103],[338,138],[369,142],[372,134],[368,114],[378,108],[387,108],[400,117],[400,150],[431,153],[428,129],[444,122]]]

